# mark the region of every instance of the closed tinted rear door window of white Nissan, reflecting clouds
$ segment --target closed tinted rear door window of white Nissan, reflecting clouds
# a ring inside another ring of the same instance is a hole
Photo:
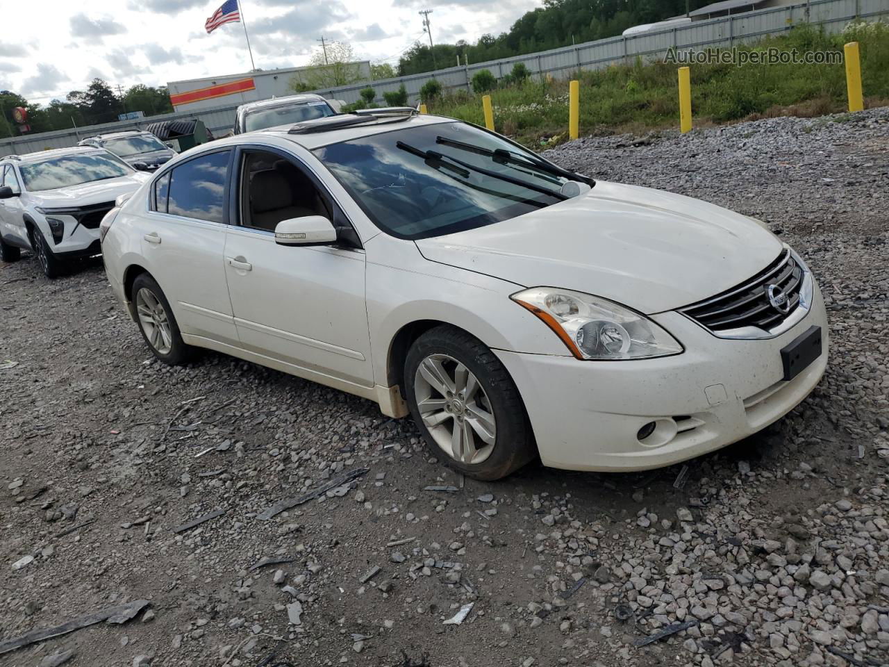
[[[225,184],[230,151],[211,153],[172,170],[167,213],[210,222],[225,221]]]

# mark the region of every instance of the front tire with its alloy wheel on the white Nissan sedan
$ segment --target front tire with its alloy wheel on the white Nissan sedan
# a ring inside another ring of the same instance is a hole
[[[404,387],[429,449],[469,477],[504,478],[537,456],[515,382],[500,359],[469,333],[444,325],[420,335],[404,361]],[[449,388],[455,390],[451,398]]]

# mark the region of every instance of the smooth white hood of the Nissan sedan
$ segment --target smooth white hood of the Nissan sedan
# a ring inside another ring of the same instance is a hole
[[[765,269],[782,247],[740,213],[605,181],[540,211],[416,244],[430,261],[597,294],[648,314],[724,292]]]

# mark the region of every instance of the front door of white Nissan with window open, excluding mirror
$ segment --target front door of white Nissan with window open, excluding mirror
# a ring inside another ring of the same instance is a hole
[[[255,149],[241,151],[236,162],[240,224],[228,227],[225,262],[241,346],[372,387],[364,250],[275,242],[279,221],[302,215],[340,221],[342,213],[296,158]]]

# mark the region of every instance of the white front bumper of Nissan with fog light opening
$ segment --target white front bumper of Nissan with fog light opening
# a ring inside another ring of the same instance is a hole
[[[828,323],[817,285],[807,315],[765,340],[717,338],[692,320],[653,316],[683,354],[634,361],[495,350],[525,401],[544,465],[568,470],[650,470],[746,438],[789,413],[818,384],[828,362]],[[812,325],[822,352],[783,380],[781,348]],[[637,433],[657,424],[651,437]]]

